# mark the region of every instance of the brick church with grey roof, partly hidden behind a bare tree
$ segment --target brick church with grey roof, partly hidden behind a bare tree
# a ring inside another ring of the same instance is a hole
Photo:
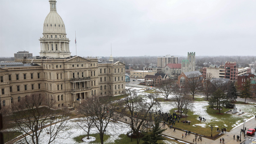
[[[189,78],[189,75],[195,74],[198,76],[198,82],[204,81],[204,75],[199,71],[192,71],[192,72],[182,72],[180,76],[178,76],[177,84],[184,85]]]

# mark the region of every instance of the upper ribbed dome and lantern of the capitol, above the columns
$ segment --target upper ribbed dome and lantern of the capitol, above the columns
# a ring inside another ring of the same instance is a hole
[[[66,34],[66,29],[62,18],[56,11],[56,0],[49,0],[50,13],[46,16],[43,23],[43,34],[45,33],[59,33]]]

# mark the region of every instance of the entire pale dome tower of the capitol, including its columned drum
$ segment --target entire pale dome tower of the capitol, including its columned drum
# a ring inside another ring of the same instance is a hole
[[[70,56],[69,38],[62,18],[56,11],[56,0],[49,0],[50,13],[43,23],[43,37],[40,37],[40,56],[67,58]]]

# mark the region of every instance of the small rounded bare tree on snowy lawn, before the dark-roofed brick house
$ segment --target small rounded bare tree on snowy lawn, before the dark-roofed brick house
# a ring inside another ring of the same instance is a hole
[[[157,88],[159,89],[160,94],[164,95],[166,100],[168,100],[168,96],[173,91],[173,85],[174,85],[173,79],[166,79],[160,82],[159,86]]]

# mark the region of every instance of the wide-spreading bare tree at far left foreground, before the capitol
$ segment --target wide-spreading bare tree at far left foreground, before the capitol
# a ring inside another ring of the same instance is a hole
[[[44,106],[42,106],[44,104]],[[50,144],[67,124],[69,111],[53,109],[55,101],[46,99],[40,93],[34,93],[12,105],[10,115],[14,121],[14,128],[23,136],[22,142],[27,144],[40,144],[40,135],[47,131],[49,139],[43,143]],[[57,124],[58,123],[58,124]]]

